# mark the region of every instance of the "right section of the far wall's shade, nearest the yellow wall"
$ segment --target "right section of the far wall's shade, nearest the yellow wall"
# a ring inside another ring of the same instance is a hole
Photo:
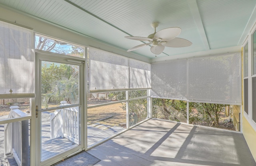
[[[241,104],[240,54],[188,59],[188,99]]]

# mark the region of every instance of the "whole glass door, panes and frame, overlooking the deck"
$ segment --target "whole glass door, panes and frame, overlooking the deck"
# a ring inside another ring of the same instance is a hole
[[[37,55],[39,165],[54,164],[81,149],[82,61]],[[46,164],[47,163],[47,164]]]

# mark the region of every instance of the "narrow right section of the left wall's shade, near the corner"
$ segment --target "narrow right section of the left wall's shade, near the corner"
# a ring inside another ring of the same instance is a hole
[[[130,88],[150,88],[151,64],[129,59]]]

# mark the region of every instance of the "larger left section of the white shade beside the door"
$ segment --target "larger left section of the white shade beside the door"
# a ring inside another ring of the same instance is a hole
[[[114,91],[129,87],[128,58],[107,51],[89,48],[89,88]]]

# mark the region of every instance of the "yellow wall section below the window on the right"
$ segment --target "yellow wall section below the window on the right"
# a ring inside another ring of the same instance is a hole
[[[252,156],[256,161],[256,131],[252,128],[247,119],[243,116],[243,135],[250,148]]]

